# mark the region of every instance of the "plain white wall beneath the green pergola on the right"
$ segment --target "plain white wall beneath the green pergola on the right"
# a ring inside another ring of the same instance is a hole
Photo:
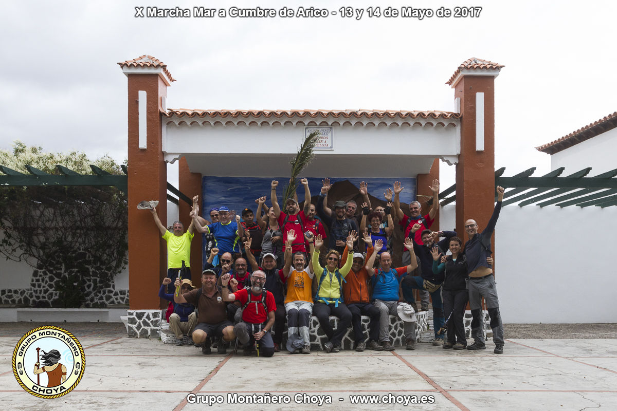
[[[442,208],[440,229],[451,227],[453,216],[453,206]],[[478,224],[483,229],[486,221]],[[616,231],[615,207],[505,206],[494,248],[503,322],[617,322]]]

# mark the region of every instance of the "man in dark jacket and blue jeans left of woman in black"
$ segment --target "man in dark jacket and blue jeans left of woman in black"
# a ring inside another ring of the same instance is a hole
[[[414,224],[410,235],[415,237],[415,233],[420,230],[420,224]],[[444,282],[444,274],[435,274],[433,272],[433,254],[431,249],[437,246],[441,253],[445,254],[444,250],[448,249],[450,238],[457,235],[455,231],[439,231],[431,232],[431,230],[423,230],[421,233],[422,244],[418,244],[413,240],[413,250],[416,256],[420,258],[421,275],[418,277],[407,277],[402,283],[403,295],[407,301],[412,301],[413,289],[426,290],[433,299],[433,329],[435,332],[434,346],[444,344],[444,335],[439,335],[437,332],[445,324],[444,303],[441,298],[441,284]],[[439,237],[445,237],[440,242]]]

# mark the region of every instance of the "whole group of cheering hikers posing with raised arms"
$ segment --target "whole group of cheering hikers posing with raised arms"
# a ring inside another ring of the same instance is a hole
[[[503,353],[503,325],[491,258],[491,236],[501,208],[502,187],[497,187],[497,205],[482,232],[476,221],[465,222],[469,240],[463,247],[456,232],[430,230],[439,210],[437,180],[430,186],[433,205],[424,216],[418,201],[410,203],[410,215],[401,210],[399,195],[404,187],[400,182],[394,182],[384,193],[386,206],[376,206],[375,210],[365,182],[360,184],[363,203],[359,210],[355,201],[338,200],[332,208],[328,206],[329,179],[323,180],[317,205],[311,203],[307,179],[300,183],[305,192],[302,210],[295,195],[284,201],[281,210],[276,195],[278,181],[271,182],[271,207],[266,208],[266,197],[260,197],[255,200],[255,213],[245,208],[236,215],[220,206],[209,210],[207,221],[200,216],[196,196],[186,232],[179,221],[173,223],[173,233],[169,232],[151,210],[167,242],[168,278],[159,296],[170,301],[170,330],[178,345],[192,335],[202,352],[209,354],[209,341],[217,338],[217,351],[225,353],[230,341],[238,338],[247,355],[255,350],[259,356],[271,357],[283,348],[292,354],[310,354],[309,321],[315,315],[327,337],[325,352],[341,349],[350,325],[356,351],[394,351],[389,315],[397,315],[404,325],[405,348],[413,350],[417,309],[413,291],[419,290],[421,309],[427,309],[429,298],[432,300],[433,345],[485,349],[481,318],[484,297],[494,352]],[[360,210],[358,221],[356,213]],[[397,246],[392,241],[395,219],[404,232],[399,268],[392,266],[391,250]],[[209,256],[201,288],[189,280],[194,230],[205,234]],[[183,279],[178,278],[179,272]],[[468,301],[474,339],[469,346],[463,326]],[[339,319],[336,329],[331,327],[330,315]],[[362,315],[370,318],[368,335],[363,332]],[[282,347],[286,324],[288,338]]]

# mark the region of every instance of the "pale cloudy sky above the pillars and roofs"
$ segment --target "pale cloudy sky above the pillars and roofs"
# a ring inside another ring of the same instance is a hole
[[[136,6],[193,9],[354,4],[359,20],[136,18]],[[504,64],[495,80],[495,166],[549,171],[537,145],[617,110],[609,1],[468,3],[479,17],[369,17],[368,7],[454,9],[459,2],[23,1],[0,16],[0,149],[126,157],[126,77],[150,54],[176,83],[169,108],[453,110],[445,81],[470,57]],[[575,170],[573,170],[575,171]],[[566,170],[567,172],[567,170]]]

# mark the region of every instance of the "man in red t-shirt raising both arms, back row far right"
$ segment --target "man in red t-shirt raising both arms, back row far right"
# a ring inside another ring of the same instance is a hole
[[[409,203],[409,211],[410,211],[411,216],[406,216],[403,213],[403,211],[400,210],[400,200],[399,200],[399,194],[400,192],[402,192],[404,187],[400,186],[400,181],[395,181],[394,186],[392,188],[394,189],[394,206],[392,206],[392,209],[395,213],[395,216],[399,218],[399,225],[403,227],[403,229],[405,230],[405,238],[410,237],[410,235],[413,235],[410,233],[412,230],[413,224],[420,224],[421,229],[416,231],[415,237],[413,237],[413,240],[415,240],[416,244],[422,244],[423,243],[422,242],[422,231],[428,230],[431,227],[431,225],[433,224],[433,221],[435,220],[435,216],[437,215],[437,211],[439,211],[439,180],[437,179],[433,180],[433,184],[429,187],[429,189],[431,189],[431,191],[433,192],[433,206],[431,206],[431,210],[429,210],[428,214],[426,214],[425,216],[422,216],[422,214],[420,214],[422,205],[420,204],[419,201],[412,201],[411,203]],[[403,250],[403,255],[402,255],[403,265],[408,266],[409,264],[411,264],[411,262],[412,260],[411,260],[409,251]],[[428,303],[429,303],[428,291],[421,290],[420,291],[420,304],[423,310],[428,309]]]

